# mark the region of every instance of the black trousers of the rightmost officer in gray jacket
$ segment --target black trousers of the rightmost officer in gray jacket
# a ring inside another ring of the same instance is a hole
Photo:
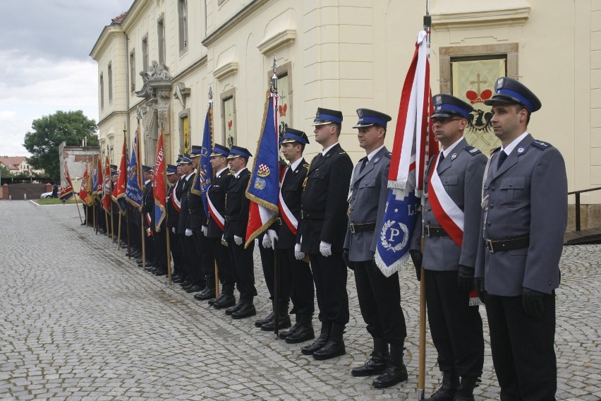
[[[545,294],[538,317],[523,311],[521,296],[486,294],[485,302],[501,400],[555,400],[555,294]]]

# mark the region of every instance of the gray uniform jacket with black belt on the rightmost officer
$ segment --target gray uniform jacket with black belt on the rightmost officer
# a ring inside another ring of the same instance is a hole
[[[498,159],[496,152],[483,186],[488,198],[482,210],[475,277],[484,277],[492,295],[516,297],[523,287],[551,294],[559,287],[568,215],[564,158],[552,145],[528,134],[497,171]],[[528,236],[527,248],[493,253],[483,239]]]

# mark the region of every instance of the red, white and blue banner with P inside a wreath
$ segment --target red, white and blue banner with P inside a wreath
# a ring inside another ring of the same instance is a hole
[[[408,258],[427,157],[437,151],[432,130],[428,129],[430,98],[426,32],[420,31],[401,92],[389,171],[391,189],[375,253],[375,262],[386,277]]]

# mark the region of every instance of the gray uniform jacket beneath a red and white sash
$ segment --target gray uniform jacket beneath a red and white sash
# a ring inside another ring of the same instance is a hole
[[[437,155],[438,157],[438,155]],[[434,168],[435,158],[430,162]],[[478,230],[480,229],[480,200],[482,194],[482,176],[487,157],[477,148],[468,145],[462,138],[451,153],[439,162],[438,175],[453,202],[463,211],[463,242],[456,244],[449,236],[425,237],[423,265],[427,270],[458,270],[459,265],[475,267],[478,253]],[[428,172],[430,170],[428,169]],[[422,209],[424,226],[442,227],[432,212],[427,193],[430,187],[425,179],[425,205]],[[422,234],[422,214],[418,214],[411,249],[419,249],[418,240]]]

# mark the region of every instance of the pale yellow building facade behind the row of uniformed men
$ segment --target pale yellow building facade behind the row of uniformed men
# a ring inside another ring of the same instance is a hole
[[[174,163],[200,145],[211,89],[215,142],[254,153],[274,56],[282,126],[311,139],[317,107],[339,109],[341,145],[357,161],[351,126],[368,107],[393,117],[391,149],[425,11],[425,0],[135,0],[90,54],[101,150],[119,164],[140,110],[142,160],[154,163],[162,131]],[[432,93],[473,103],[468,140],[485,152],[497,146],[483,101],[497,76],[518,78],[542,102],[528,131],[564,155],[569,191],[601,186],[601,1],[431,0],[430,14]],[[319,151],[311,142],[309,159]],[[581,200],[592,205],[588,220],[600,214],[601,191]]]

